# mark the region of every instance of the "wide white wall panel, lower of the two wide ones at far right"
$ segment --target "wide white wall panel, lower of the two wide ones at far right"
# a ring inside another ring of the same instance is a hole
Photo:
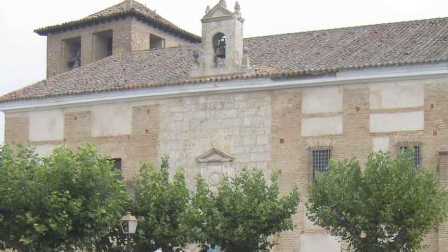
[[[424,111],[370,115],[370,132],[400,132],[423,130]]]

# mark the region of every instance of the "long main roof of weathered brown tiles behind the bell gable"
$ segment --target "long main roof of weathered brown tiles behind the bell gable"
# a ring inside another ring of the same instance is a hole
[[[0,97],[0,102],[235,78],[299,76],[448,61],[448,18],[249,38],[255,73],[190,78],[189,45],[114,55]]]

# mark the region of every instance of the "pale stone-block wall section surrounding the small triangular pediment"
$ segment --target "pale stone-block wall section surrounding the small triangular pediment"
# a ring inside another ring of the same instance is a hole
[[[270,160],[270,96],[266,92],[194,96],[162,101],[159,156],[184,166],[191,188],[200,173],[196,158],[213,147],[233,155],[233,169]],[[194,139],[194,140],[193,140]]]

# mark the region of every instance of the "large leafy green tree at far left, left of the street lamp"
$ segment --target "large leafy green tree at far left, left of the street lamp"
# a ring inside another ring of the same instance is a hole
[[[107,251],[131,203],[106,156],[92,145],[0,152],[0,244],[18,251]],[[2,245],[0,245],[2,246]]]

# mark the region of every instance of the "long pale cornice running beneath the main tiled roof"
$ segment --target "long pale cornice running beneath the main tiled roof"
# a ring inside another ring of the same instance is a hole
[[[448,79],[447,63],[347,70],[314,77],[259,77],[231,81],[204,82],[194,85],[156,86],[76,96],[18,100],[0,103],[0,110],[4,112],[18,112],[147,99],[440,78]]]

